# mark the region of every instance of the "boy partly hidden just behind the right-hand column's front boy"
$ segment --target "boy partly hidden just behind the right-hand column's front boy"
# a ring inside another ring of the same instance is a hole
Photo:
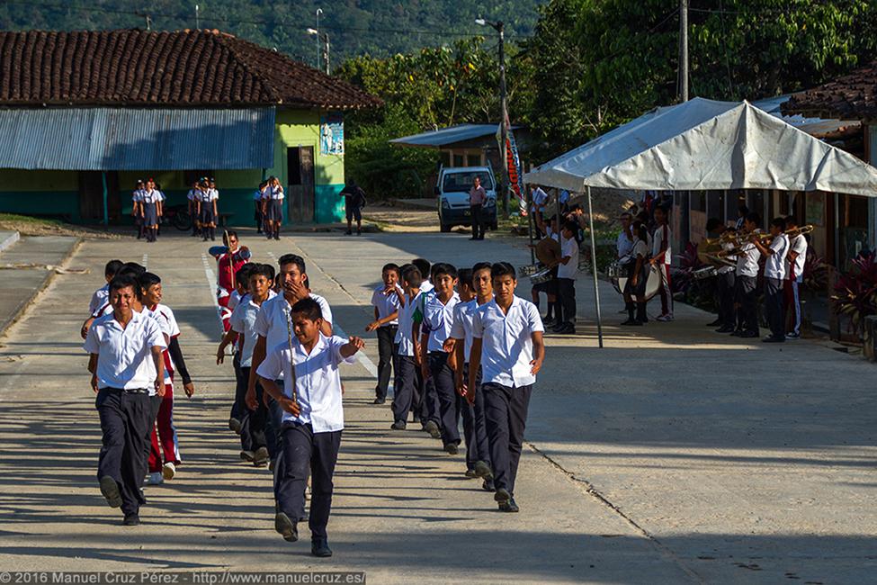
[[[454,385],[463,419],[463,437],[466,439],[466,477],[484,479],[481,487],[494,491],[493,471],[490,467],[488,430],[484,425],[484,392],[475,392],[475,402],[465,400],[469,383],[469,355],[472,349],[472,314],[493,299],[490,285],[490,265],[479,262],[470,268],[461,268],[457,283],[460,302],[453,308],[451,337],[444,342],[445,351],[453,356]],[[480,372],[476,382],[481,382]]]

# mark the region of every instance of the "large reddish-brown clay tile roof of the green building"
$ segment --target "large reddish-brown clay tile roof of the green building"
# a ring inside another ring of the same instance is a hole
[[[219,31],[0,32],[0,105],[374,107],[380,100]]]

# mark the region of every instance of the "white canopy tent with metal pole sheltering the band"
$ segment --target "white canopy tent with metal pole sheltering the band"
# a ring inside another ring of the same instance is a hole
[[[751,103],[695,98],[657,108],[524,175],[587,193],[591,187],[655,191],[780,189],[877,196],[877,168],[815,139]],[[597,333],[603,347],[594,272]]]

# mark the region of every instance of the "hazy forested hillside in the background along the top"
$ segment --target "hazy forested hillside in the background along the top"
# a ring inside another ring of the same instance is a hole
[[[544,0],[541,0],[544,1]],[[317,60],[317,40],[307,34],[317,25],[329,35],[330,61],[362,54],[393,55],[436,47],[483,31],[483,16],[504,20],[511,37],[532,31],[540,0],[4,0],[0,30],[193,29],[198,25],[228,31],[265,47]]]

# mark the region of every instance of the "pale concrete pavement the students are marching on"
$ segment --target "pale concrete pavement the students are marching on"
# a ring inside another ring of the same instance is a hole
[[[246,238],[255,259],[295,252],[336,322],[361,332],[380,266],[416,256],[470,266],[529,262],[517,240],[455,234]],[[389,431],[372,406],[376,344],[347,367],[347,429],[329,525],[336,555],[273,532],[270,475],[237,460],[230,365],[213,354],[213,266],[193,238],[88,241],[0,352],[0,567],[361,570],[372,582],[874,582],[877,472],[873,365],[819,343],[762,347],[719,337],[710,317],[635,332],[604,328],[579,279],[577,338],[550,338],[533,394],[516,500],[497,513],[462,455]],[[144,256],[144,253],[146,255]],[[120,526],[94,477],[100,444],[77,330],[111,257],[165,280],[198,393],[177,402],[184,464],[146,488],[144,524]],[[519,293],[528,297],[526,283]],[[621,302],[603,285],[607,323]],[[373,337],[371,338],[373,340]],[[305,531],[306,533],[306,531]],[[304,536],[307,536],[306,534]],[[307,538],[305,538],[307,540]]]

